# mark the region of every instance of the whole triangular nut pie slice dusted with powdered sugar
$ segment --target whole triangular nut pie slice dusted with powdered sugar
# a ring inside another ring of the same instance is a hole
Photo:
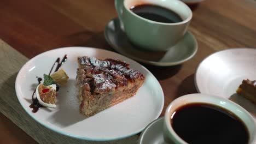
[[[129,63],[117,59],[78,57],[76,86],[79,112],[95,115],[136,94],[145,77],[129,68]]]

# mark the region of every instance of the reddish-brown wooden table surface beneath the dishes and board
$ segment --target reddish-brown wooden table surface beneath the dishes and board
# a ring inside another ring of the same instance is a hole
[[[65,46],[114,51],[104,39],[103,29],[116,16],[110,0],[2,0],[0,38],[28,58]],[[189,31],[199,46],[190,61],[173,67],[145,65],[164,90],[164,109],[181,95],[197,93],[193,77],[203,58],[223,49],[256,47],[256,1],[206,0],[193,11]],[[37,143],[2,113],[0,137],[0,143]]]

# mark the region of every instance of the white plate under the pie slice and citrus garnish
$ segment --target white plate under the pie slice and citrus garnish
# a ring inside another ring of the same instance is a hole
[[[61,68],[66,71],[69,80],[66,86],[60,88],[57,108],[43,107],[33,113],[29,106],[32,103],[32,93],[38,84],[36,76],[43,77],[43,74],[48,74],[56,58],[62,58],[65,54],[68,60]],[[122,59],[130,63],[130,68],[141,71],[146,80],[132,98],[86,118],[78,111],[79,104],[74,86],[78,56]],[[55,49],[30,59],[20,69],[15,89],[22,107],[37,122],[57,133],[84,140],[115,140],[137,134],[159,117],[164,106],[162,88],[149,70],[118,53],[90,47]]]

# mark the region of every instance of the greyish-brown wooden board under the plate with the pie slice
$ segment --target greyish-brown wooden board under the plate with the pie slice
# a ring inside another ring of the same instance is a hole
[[[115,141],[85,141],[64,136],[43,127],[20,105],[15,92],[16,76],[28,58],[0,39],[0,112],[38,143],[136,143],[138,135]]]

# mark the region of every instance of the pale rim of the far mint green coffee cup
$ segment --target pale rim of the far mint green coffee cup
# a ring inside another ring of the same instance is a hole
[[[182,1],[179,1],[179,0],[172,0],[172,1],[176,1],[176,2],[178,2],[178,3],[182,3],[182,4],[184,5],[184,7],[187,7],[188,10],[189,10],[189,17],[187,17],[185,20],[182,20],[181,22],[175,22],[175,23],[165,23],[165,22],[152,21],[152,20],[148,20],[148,19],[146,19],[146,18],[144,18],[144,17],[138,16],[138,15],[136,15],[135,13],[133,13],[130,8],[127,8],[127,7],[126,7],[125,1],[129,1],[129,0],[124,0],[124,2],[123,2],[123,3],[124,3],[124,8],[125,8],[127,11],[129,11],[129,13],[131,13],[133,16],[138,17],[139,19],[142,19],[142,20],[144,20],[144,21],[148,21],[148,22],[150,22],[150,23],[156,23],[156,24],[159,24],[159,25],[176,26],[176,25],[182,25],[182,24],[184,24],[184,23],[189,22],[189,21],[192,19],[192,17],[193,17],[193,13],[192,13],[191,9],[188,7],[188,5],[185,4],[185,3],[182,2]]]

